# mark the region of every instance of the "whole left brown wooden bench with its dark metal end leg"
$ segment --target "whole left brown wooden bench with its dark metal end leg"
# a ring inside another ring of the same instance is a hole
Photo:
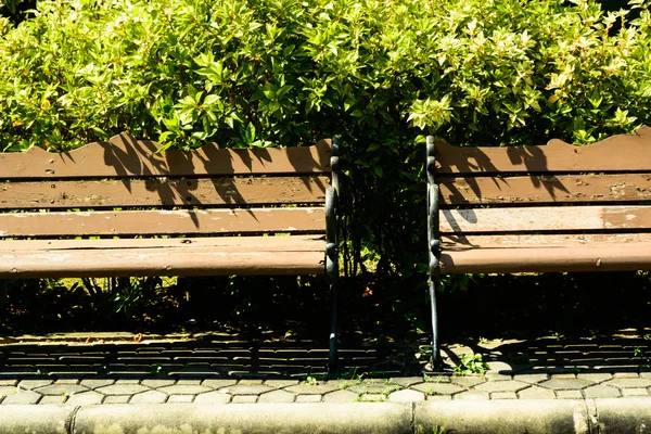
[[[123,133],[0,153],[0,278],[324,273],[334,369],[337,139],[158,148]]]

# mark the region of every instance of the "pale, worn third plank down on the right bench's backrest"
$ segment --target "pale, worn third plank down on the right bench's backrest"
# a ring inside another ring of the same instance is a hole
[[[445,209],[441,232],[651,229],[651,206],[538,206]]]

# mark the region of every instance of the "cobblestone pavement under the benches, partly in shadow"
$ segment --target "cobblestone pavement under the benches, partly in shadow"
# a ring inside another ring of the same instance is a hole
[[[311,341],[23,336],[0,340],[0,406],[648,397],[643,335],[455,344],[444,348],[446,370],[430,374],[414,358],[424,337],[401,346],[360,342],[341,352],[336,379],[326,375],[328,352]],[[471,372],[481,370],[478,354],[489,368],[481,374]],[[464,372],[455,372],[462,360]]]

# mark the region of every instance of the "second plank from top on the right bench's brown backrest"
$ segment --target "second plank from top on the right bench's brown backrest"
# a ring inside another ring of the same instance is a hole
[[[439,181],[442,205],[651,200],[651,174],[469,177]]]

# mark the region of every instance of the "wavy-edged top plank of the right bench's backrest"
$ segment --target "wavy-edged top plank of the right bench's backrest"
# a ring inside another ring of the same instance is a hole
[[[436,142],[438,174],[590,173],[651,169],[651,127],[587,146],[561,140],[547,145],[458,148]]]

